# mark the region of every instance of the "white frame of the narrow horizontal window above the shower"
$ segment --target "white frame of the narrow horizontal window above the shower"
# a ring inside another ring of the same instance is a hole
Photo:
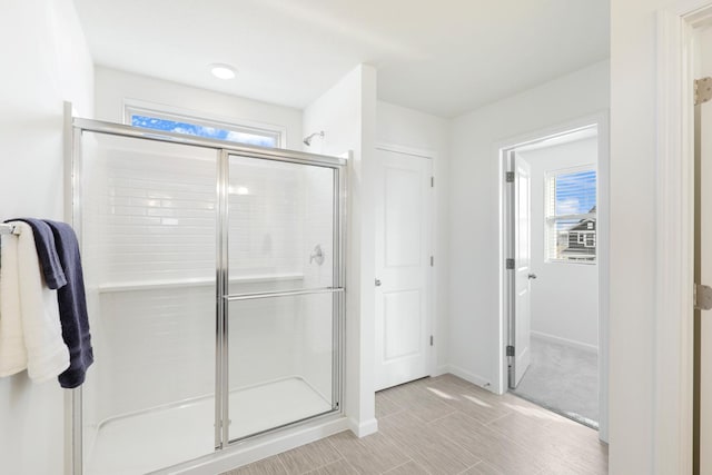
[[[202,127],[212,127],[221,130],[250,133],[275,139],[274,148],[286,148],[287,129],[280,126],[255,122],[251,120],[210,116],[201,112],[189,111],[171,106],[145,102],[134,99],[123,100],[123,123],[131,126],[132,116],[148,116],[157,119],[180,121]],[[142,128],[144,129],[144,128]],[[145,130],[154,130],[145,128]],[[238,142],[249,147],[264,147],[247,142]]]

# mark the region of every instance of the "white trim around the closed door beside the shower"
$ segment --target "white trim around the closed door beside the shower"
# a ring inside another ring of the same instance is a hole
[[[435,154],[432,150],[402,146],[402,145],[392,144],[392,142],[377,142],[376,149],[383,150],[383,151],[390,151],[395,154],[408,155],[416,158],[425,158],[431,161],[431,174],[433,177],[435,177]],[[436,208],[435,208],[434,189],[435,189],[434,187],[431,187],[429,192],[427,194],[427,205],[428,205],[427,206],[428,208],[427,209],[427,212],[428,212],[428,226],[427,226],[428,237],[427,238],[428,238],[428,246],[431,247],[431,256],[435,256],[435,248],[436,248],[434,229],[435,229],[435,220],[437,217],[436,217]],[[378,191],[378,194],[380,194],[380,190]],[[375,237],[376,236],[374,236],[374,239]],[[443,257],[443,259],[445,257]],[[437,260],[437,256],[435,257],[435,259]],[[377,263],[376,263],[376,266],[377,266]],[[435,321],[435,315],[436,315],[435,314],[435,288],[437,283],[436,283],[436,277],[435,277],[436,273],[434,271],[434,266],[431,266],[429,269],[431,270],[428,271],[428,276],[427,276],[427,289],[426,289],[427,315],[425,316],[425,320],[426,320],[426,327],[429,331],[429,335],[433,335],[435,344],[431,346],[427,352],[426,365],[427,365],[427,373],[429,375],[434,375],[437,372],[437,350],[436,350],[437,347],[435,345],[438,342],[438,335],[436,334],[437,325]],[[378,329],[376,328],[376,330]],[[374,367],[374,370],[376,370],[375,367]]]

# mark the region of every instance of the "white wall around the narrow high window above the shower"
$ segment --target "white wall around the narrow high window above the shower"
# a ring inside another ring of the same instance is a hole
[[[301,150],[301,111],[177,82],[96,68],[96,118],[123,122],[123,101],[134,99],[168,106],[200,117],[235,123],[276,126],[286,129],[286,147]]]

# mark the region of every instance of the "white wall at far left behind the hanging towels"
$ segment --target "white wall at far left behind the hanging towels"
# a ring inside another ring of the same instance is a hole
[[[61,220],[62,101],[91,117],[93,98],[91,58],[72,2],[6,2],[0,57],[0,219]],[[56,380],[36,384],[26,373],[0,378],[0,472],[62,473],[65,392]]]

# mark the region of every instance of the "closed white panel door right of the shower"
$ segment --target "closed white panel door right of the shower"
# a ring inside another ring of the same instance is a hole
[[[429,374],[431,160],[377,150],[376,390]]]

